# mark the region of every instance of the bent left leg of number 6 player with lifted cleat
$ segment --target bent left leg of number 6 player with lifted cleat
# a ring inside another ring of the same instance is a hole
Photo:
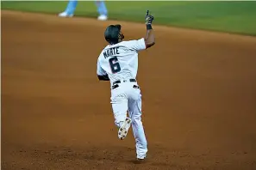
[[[118,91],[120,91],[120,89],[116,89],[114,92],[112,91],[111,104],[115,117],[115,124],[119,128],[118,137],[123,139],[128,134],[128,129],[131,125],[131,119],[127,117],[128,99],[126,94],[120,94]]]

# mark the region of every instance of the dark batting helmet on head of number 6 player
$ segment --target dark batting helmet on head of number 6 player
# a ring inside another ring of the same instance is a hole
[[[119,39],[123,39],[124,36],[121,33],[121,25],[109,25],[105,30],[105,39],[109,44],[116,44],[119,42]]]

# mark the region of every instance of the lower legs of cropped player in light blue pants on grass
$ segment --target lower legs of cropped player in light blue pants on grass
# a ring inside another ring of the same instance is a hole
[[[104,1],[95,1],[97,6],[97,12],[99,13],[97,20],[106,21],[108,20],[108,10]],[[66,9],[64,12],[59,13],[60,17],[72,17],[77,8],[78,0],[70,0],[67,3]]]

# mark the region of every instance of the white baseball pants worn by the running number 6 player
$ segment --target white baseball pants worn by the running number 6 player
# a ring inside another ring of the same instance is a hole
[[[143,159],[147,155],[147,139],[145,137],[143,124],[141,122],[141,94],[140,88],[135,88],[137,82],[121,82],[118,88],[111,89],[111,104],[115,117],[115,123],[127,118],[132,119],[132,128],[135,138],[137,158]]]

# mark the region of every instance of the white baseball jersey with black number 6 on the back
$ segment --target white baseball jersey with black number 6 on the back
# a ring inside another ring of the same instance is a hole
[[[145,49],[144,38],[106,46],[97,59],[97,75],[108,74],[110,83],[136,78],[138,52]]]

